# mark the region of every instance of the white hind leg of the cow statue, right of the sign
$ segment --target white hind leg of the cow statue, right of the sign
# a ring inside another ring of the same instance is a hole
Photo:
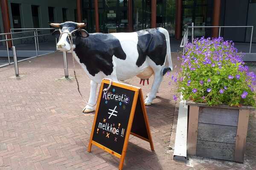
[[[161,72],[154,75],[154,82],[152,84],[151,90],[150,90],[149,94],[147,94],[147,98],[144,100],[144,103],[146,106],[151,105],[153,99],[156,98],[158,88],[159,88],[162,80],[163,80],[163,76],[161,75]]]

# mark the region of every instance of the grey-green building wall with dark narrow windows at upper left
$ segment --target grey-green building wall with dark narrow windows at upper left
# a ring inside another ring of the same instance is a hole
[[[7,10],[11,28],[49,28],[48,21],[75,20],[76,1],[72,0],[0,0],[0,33],[4,32],[2,14]]]

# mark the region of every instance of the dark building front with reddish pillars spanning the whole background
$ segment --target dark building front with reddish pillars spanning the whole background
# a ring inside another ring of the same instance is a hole
[[[256,0],[0,0],[0,32],[5,32],[8,3],[10,28],[49,28],[48,21],[86,22],[87,31],[130,32],[163,27],[180,39],[186,25],[256,26]],[[6,15],[6,14],[5,14]],[[256,42],[256,29],[253,42]],[[221,36],[249,42],[251,28],[223,28]],[[195,28],[195,36],[217,37],[218,28]]]

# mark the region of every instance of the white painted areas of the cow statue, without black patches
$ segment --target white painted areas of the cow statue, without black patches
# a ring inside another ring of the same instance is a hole
[[[148,56],[145,59],[140,67],[136,65],[136,62],[139,57],[139,53],[137,50],[138,44],[138,33],[131,32],[131,33],[112,33],[114,37],[116,37],[121,46],[122,50],[126,54],[126,59],[119,59],[113,55],[112,63],[113,63],[113,72],[110,75],[104,74],[102,71],[99,71],[94,76],[91,75],[84,63],[80,62],[78,56],[75,56],[76,61],[81,65],[84,69],[87,76],[91,79],[90,85],[90,98],[89,98],[89,105],[87,105],[84,109],[84,113],[89,113],[95,110],[93,105],[96,103],[96,89],[97,85],[102,81],[104,78],[109,78],[113,81],[123,81],[127,79],[131,79],[134,76],[138,76],[143,79],[147,79],[154,74],[154,82],[152,84],[151,92],[149,93],[148,97],[145,99],[145,105],[151,105],[152,100],[156,97],[156,93],[158,91],[160,82],[163,79],[163,68],[166,66],[172,69],[172,59],[171,59],[171,50],[170,50],[170,43],[169,43],[169,33],[164,28],[157,28],[158,31],[162,32],[166,37],[166,60],[163,65],[157,65],[153,60],[151,60]],[[67,30],[68,31],[68,30]],[[63,32],[63,31],[62,31]],[[97,33],[94,33],[97,34]],[[93,36],[93,34],[90,34]],[[66,38],[65,38],[66,37]],[[65,44],[65,45],[63,45]],[[59,48],[61,46],[61,48]],[[63,48],[64,46],[64,48]],[[70,44],[67,42],[67,34],[62,34],[61,39],[57,44],[58,50],[60,51],[68,51],[70,50]],[[75,47],[75,46],[74,46]]]

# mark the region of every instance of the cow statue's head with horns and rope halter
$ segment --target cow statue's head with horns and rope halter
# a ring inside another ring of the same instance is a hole
[[[59,37],[57,43],[57,50],[59,51],[70,51],[71,44],[70,40],[72,39],[73,42],[73,49],[76,48],[76,44],[79,43],[79,40],[82,38],[86,38],[89,36],[88,32],[81,27],[86,26],[85,23],[74,23],[71,21],[65,23],[50,23],[50,26],[55,28],[59,28],[52,32],[52,35]],[[72,36],[70,36],[70,34]],[[70,36],[70,40],[69,37]]]

